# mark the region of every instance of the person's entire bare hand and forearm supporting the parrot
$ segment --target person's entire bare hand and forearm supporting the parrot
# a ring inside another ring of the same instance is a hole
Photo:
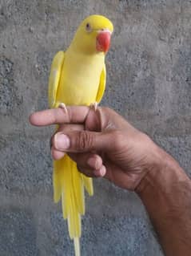
[[[35,112],[30,123],[59,124],[51,138],[58,160],[68,153],[80,172],[135,191],[165,255],[191,253],[191,181],[177,161],[110,108],[70,106]]]

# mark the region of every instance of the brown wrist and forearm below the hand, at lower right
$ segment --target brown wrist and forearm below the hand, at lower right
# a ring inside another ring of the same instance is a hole
[[[189,177],[173,157],[161,152],[161,165],[141,180],[136,192],[149,213],[165,255],[190,255]]]

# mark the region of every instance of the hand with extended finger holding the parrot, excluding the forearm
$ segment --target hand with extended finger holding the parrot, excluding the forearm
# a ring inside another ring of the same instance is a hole
[[[51,138],[55,160],[67,152],[82,173],[105,177],[124,189],[136,189],[162,161],[161,148],[110,108],[54,108],[33,113],[30,123],[59,124]]]

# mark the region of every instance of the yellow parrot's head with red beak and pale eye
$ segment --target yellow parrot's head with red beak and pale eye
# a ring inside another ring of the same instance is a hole
[[[87,54],[109,50],[113,24],[101,15],[91,15],[82,21],[73,39],[73,47]]]

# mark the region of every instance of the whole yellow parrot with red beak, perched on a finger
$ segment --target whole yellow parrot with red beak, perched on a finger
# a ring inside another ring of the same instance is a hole
[[[109,50],[113,24],[101,15],[91,15],[80,26],[70,47],[54,56],[49,79],[50,108],[97,104],[105,91],[105,54]],[[81,215],[85,213],[84,187],[93,195],[90,177],[78,172],[65,155],[54,161],[54,201],[62,200],[63,217],[68,221],[75,255],[80,255]]]

